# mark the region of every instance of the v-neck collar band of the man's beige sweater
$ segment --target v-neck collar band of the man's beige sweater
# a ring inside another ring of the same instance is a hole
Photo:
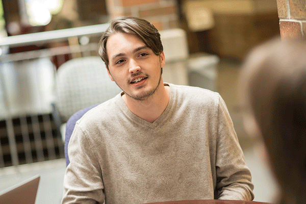
[[[152,123],[148,122],[148,121],[138,117],[134,113],[132,113],[132,111],[130,111],[130,109],[127,108],[126,104],[124,103],[124,100],[122,98],[122,92],[118,95],[118,97],[120,97],[119,108],[123,111],[123,113],[126,114],[127,117],[129,117],[131,120],[134,120],[139,125],[147,128],[147,129],[156,129],[156,127],[159,126],[159,124],[161,124],[166,119],[169,110],[173,106],[173,96],[174,96],[173,87],[169,83],[164,83],[164,85],[170,87],[169,102],[168,102],[168,105],[167,105],[166,109],[164,110],[164,112],[154,122],[152,122]]]

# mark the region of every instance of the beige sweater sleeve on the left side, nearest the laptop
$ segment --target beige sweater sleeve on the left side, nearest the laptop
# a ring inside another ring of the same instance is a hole
[[[104,185],[90,138],[75,125],[68,145],[70,163],[64,176],[62,204],[104,203]]]

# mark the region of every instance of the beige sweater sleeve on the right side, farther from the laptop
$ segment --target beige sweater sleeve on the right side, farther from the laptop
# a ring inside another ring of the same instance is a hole
[[[251,183],[251,173],[245,164],[232,119],[221,97],[216,137],[218,199],[252,200],[254,186]]]

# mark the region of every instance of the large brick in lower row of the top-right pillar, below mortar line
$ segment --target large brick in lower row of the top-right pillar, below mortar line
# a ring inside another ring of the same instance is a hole
[[[279,21],[279,30],[283,40],[301,39],[303,37],[300,22],[281,20]]]

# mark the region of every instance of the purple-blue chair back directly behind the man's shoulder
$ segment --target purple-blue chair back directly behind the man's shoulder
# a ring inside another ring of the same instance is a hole
[[[66,133],[65,133],[65,159],[66,159],[66,166],[70,163],[69,157],[68,157],[68,144],[71,137],[71,134],[73,132],[75,123],[90,109],[96,107],[98,104],[87,107],[85,109],[82,109],[78,111],[77,113],[74,113],[69,120],[66,123]]]

